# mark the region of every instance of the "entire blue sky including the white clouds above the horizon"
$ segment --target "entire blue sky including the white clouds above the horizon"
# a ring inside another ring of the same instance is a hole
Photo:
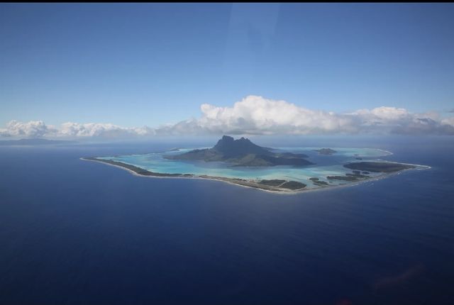
[[[0,136],[454,134],[453,29],[454,4],[0,4]]]

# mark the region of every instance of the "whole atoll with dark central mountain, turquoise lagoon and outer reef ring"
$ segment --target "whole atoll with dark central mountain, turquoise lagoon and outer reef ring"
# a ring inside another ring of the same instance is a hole
[[[247,138],[235,140],[223,135],[211,148],[173,148],[140,155],[82,159],[121,167],[142,177],[211,179],[279,194],[341,187],[405,170],[428,168],[373,160],[371,149],[336,149],[343,153],[316,165],[305,154],[310,152],[309,148],[265,148]],[[346,150],[350,155],[345,154]],[[331,148],[316,151],[321,155],[337,153]],[[372,153],[383,156],[382,150]],[[360,156],[367,156],[367,161],[355,161]]]

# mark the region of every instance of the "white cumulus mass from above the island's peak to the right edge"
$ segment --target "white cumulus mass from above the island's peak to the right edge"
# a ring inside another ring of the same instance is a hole
[[[434,113],[410,113],[382,106],[353,113],[317,111],[282,100],[246,96],[231,107],[201,105],[201,118],[157,129],[157,133],[326,134],[437,133],[454,134],[452,121]]]

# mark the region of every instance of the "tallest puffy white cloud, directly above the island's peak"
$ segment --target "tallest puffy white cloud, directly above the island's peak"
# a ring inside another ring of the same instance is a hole
[[[233,107],[201,105],[197,124],[206,131],[218,133],[326,133],[355,132],[354,119],[325,111],[314,111],[288,103],[247,96]]]

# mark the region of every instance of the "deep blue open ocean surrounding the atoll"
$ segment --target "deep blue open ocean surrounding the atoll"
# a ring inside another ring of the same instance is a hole
[[[454,304],[454,138],[293,140],[257,143],[432,169],[282,195],[79,160],[171,141],[0,147],[0,304]]]

